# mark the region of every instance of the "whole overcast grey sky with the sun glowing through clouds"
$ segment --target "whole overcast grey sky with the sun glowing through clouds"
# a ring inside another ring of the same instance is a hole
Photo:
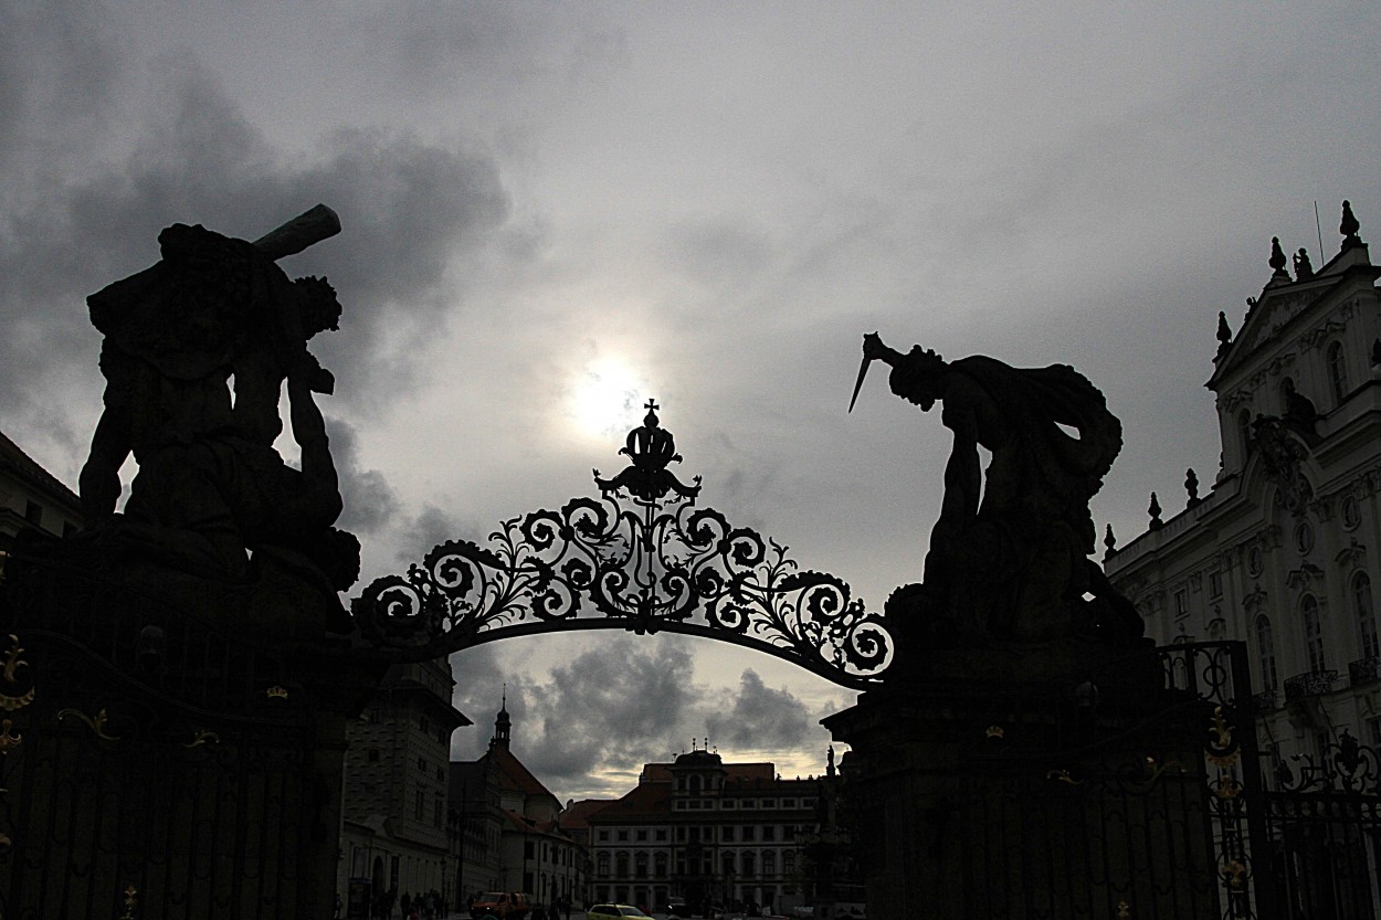
[[[84,297],[171,222],[323,202],[344,232],[283,265],[345,307],[312,347],[362,586],[592,495],[656,398],[702,506],[881,609],[949,437],[881,373],[845,414],[871,330],[1079,367],[1124,424],[1094,517],[1127,543],[1214,478],[1217,315],[1271,238],[1322,265],[1349,198],[1381,239],[1378,48],[1375,4],[4,1],[0,428],[75,485]],[[562,798],[692,738],[818,772],[852,693],[728,648],[463,652],[454,753],[507,682]]]

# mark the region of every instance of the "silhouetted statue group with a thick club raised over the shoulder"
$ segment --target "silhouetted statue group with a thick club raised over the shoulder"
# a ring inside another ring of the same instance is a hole
[[[305,588],[309,606],[348,629],[336,593],[358,577],[359,542],[331,526],[340,483],[313,394],[334,380],[307,349],[341,307],[325,280],[291,280],[275,264],[338,229],[323,206],[257,243],[174,224],[156,265],[87,298],[106,388],[80,477],[91,533],[73,550],[148,566],[153,583],[175,572]],[[284,381],[301,470],[273,449]],[[117,514],[131,454],[138,472]]]

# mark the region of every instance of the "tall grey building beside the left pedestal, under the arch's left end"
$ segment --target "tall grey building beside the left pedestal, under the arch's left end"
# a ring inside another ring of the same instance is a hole
[[[456,903],[447,837],[450,734],[471,721],[450,705],[446,659],[396,664],[349,725],[341,873],[337,887],[367,883],[371,897],[442,894]]]

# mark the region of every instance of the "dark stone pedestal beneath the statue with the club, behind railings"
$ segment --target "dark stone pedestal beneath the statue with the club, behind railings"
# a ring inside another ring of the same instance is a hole
[[[345,724],[384,663],[81,571],[4,575],[4,914],[331,916]]]

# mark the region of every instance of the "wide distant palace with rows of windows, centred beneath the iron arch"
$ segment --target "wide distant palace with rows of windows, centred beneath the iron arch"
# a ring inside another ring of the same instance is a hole
[[[802,845],[820,830],[818,779],[782,779],[772,763],[724,763],[692,750],[645,764],[638,786],[591,811],[592,901],[653,910],[780,909],[813,884]]]

